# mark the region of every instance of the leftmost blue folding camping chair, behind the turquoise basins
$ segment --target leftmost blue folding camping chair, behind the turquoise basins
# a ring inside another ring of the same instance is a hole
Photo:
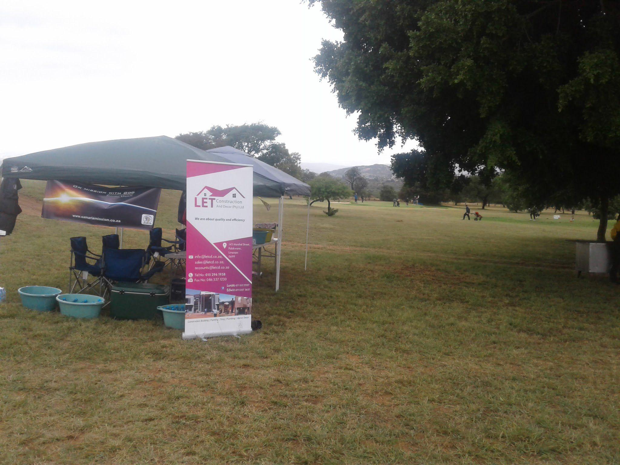
[[[71,237],[69,241],[71,242],[69,294],[79,294],[99,285],[101,295],[103,291],[101,255],[89,250],[84,236]],[[94,260],[94,263],[89,263],[88,260]],[[97,279],[89,282],[90,275]]]

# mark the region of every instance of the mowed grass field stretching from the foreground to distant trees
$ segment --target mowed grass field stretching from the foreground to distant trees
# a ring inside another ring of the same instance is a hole
[[[1,463],[620,462],[620,286],[575,277],[586,213],[314,204],[304,272],[307,208],[286,200],[281,290],[269,262],[254,285],[263,329],[203,342],[22,308],[19,286],[66,290],[69,237],[100,250],[110,232],[40,218],[45,184],[24,185],[0,239]],[[162,193],[164,237],[178,198]],[[268,201],[255,221],[275,221]]]

